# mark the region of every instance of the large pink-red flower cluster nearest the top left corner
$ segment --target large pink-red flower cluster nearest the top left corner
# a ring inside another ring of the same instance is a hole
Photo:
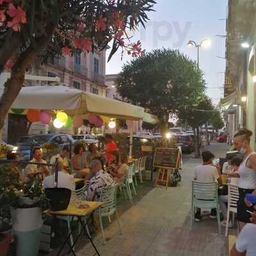
[[[27,22],[26,12],[20,9],[19,6],[18,8],[15,8],[15,6],[10,3],[7,13],[11,18],[13,18],[11,21],[7,22],[7,26],[12,28],[14,31],[20,31],[20,23],[25,24]]]

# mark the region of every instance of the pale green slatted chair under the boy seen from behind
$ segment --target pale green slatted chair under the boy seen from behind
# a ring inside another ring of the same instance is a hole
[[[219,234],[221,234],[218,184],[216,182],[192,181],[190,230],[192,230],[193,220],[195,220],[196,207],[200,209],[216,209],[217,220],[218,220],[218,230],[219,230]]]

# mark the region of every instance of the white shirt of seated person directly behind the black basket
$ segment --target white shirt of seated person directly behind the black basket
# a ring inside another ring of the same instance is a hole
[[[55,188],[55,175],[52,174],[44,179],[44,188]],[[76,189],[74,177],[65,172],[58,172],[58,188]]]

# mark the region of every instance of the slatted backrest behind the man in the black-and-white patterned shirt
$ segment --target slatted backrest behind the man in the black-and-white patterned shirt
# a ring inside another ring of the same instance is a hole
[[[101,216],[112,215],[116,211],[116,190],[117,186],[111,185],[102,189],[100,192],[100,202],[104,204],[99,208]]]

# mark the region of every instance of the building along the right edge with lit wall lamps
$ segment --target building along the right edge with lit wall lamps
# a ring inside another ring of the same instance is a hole
[[[229,141],[241,127],[253,131],[255,149],[256,1],[229,0],[226,71],[221,109]]]

